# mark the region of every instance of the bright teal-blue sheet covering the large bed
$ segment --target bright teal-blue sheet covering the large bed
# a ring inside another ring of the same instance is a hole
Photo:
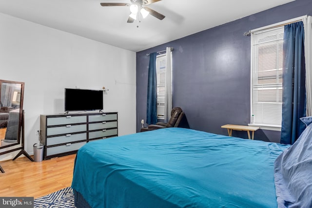
[[[285,203],[285,197],[275,193],[274,172],[280,171],[274,162],[290,148],[182,128],[90,142],[76,156],[72,182],[75,205],[282,207],[290,202]],[[278,183],[283,186],[287,181],[281,178]]]

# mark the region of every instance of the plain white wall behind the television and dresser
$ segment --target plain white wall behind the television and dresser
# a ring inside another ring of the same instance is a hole
[[[136,132],[135,52],[0,13],[0,79],[25,82],[30,154],[39,115],[64,113],[64,88],[105,86],[104,111],[118,112],[119,135]]]

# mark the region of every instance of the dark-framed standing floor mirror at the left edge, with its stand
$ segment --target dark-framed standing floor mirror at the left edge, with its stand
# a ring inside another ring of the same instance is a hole
[[[20,150],[13,160],[24,154],[33,161],[24,151],[23,96],[24,82],[0,80],[0,155]]]

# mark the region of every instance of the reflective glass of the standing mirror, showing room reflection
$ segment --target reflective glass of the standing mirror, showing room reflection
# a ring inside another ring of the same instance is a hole
[[[0,86],[0,149],[20,143],[22,84],[5,82]]]

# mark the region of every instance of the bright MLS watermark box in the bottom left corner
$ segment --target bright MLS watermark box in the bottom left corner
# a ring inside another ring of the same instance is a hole
[[[0,197],[0,208],[34,208],[34,197]]]

